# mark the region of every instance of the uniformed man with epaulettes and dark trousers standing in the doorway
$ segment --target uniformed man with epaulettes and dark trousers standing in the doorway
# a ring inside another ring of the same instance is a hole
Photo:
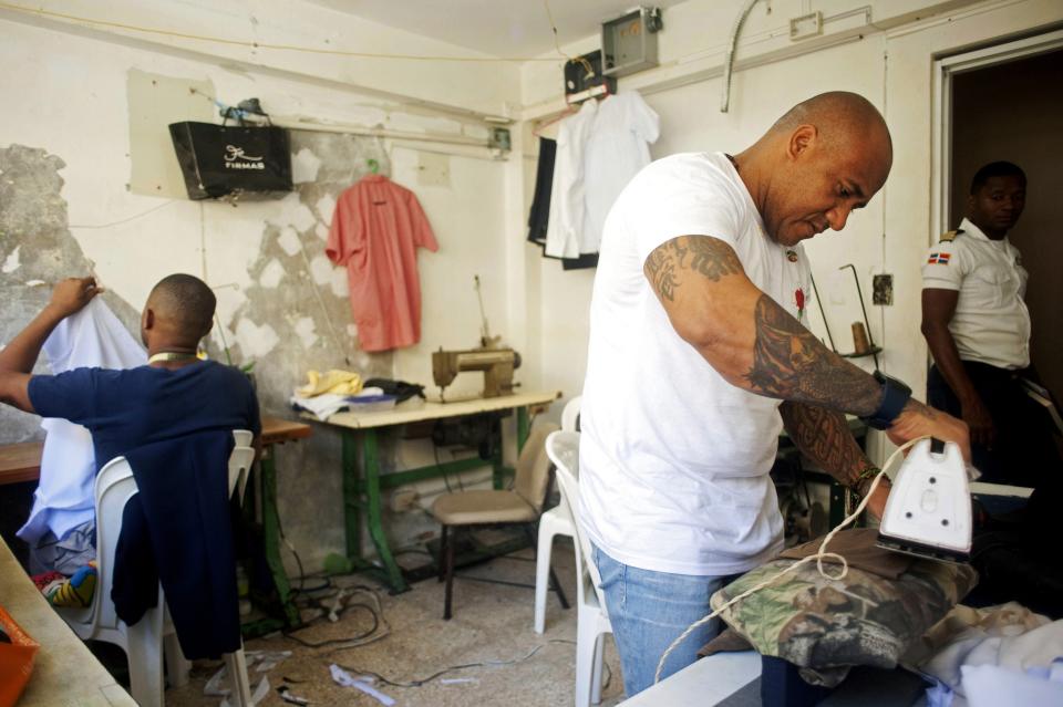
[[[1030,312],[1026,271],[1008,240],[1025,206],[1026,176],[1009,162],[971,180],[967,218],[922,263],[922,333],[933,365],[927,402],[971,430],[983,481],[1035,486],[1059,455],[1044,410],[1026,395]]]

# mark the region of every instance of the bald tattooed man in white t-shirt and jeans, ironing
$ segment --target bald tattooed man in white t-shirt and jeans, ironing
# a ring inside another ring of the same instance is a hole
[[[783,427],[857,493],[878,470],[846,413],[895,443],[932,434],[968,451],[961,420],[846,362],[805,329],[801,241],[842,230],[891,163],[878,111],[859,95],[825,93],[741,153],[649,165],[606,220],[580,418],[580,510],[629,697],[652,684],[664,649],[710,613],[726,578],[782,550],[768,471]],[[887,487],[869,499],[877,516]],[[688,638],[663,674],[692,663],[715,631]]]

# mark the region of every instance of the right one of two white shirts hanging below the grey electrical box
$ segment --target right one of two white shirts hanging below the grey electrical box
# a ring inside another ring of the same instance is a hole
[[[649,145],[657,142],[659,125],[657,113],[636,91],[609,96],[598,106],[584,157],[587,216],[579,252],[598,252],[606,216],[631,178],[650,164]]]

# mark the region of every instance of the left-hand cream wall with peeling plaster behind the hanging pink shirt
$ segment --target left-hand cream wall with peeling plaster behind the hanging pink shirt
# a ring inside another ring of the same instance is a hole
[[[297,184],[285,198],[233,206],[143,196],[127,186],[133,71],[141,72],[140,79],[148,73],[209,82],[219,100],[233,104],[254,95],[277,113],[458,134],[463,127],[455,121],[404,114],[379,100],[313,82],[8,22],[2,15],[0,34],[0,62],[6,66],[0,92],[19,96],[0,112],[0,344],[47,302],[49,289],[29,288],[30,280],[51,283],[93,272],[107,288],[104,297],[112,309],[136,331],[151,287],[171,272],[189,272],[204,278],[218,295],[220,325],[208,341],[211,355],[224,361],[227,345],[235,364],[254,361],[264,413],[290,416],[287,397],[311,367],[351,367],[365,377],[430,385],[429,352],[441,343],[468,346],[478,335],[473,273],[491,283],[495,300],[487,304],[488,314],[496,330],[506,331],[505,277],[495,264],[507,249],[502,163],[444,156],[446,183],[438,184],[436,175],[434,186],[422,186],[419,149],[292,131]],[[322,73],[333,70],[322,64]],[[464,91],[455,83],[452,95]],[[425,339],[398,355],[368,355],[358,349],[345,272],[323,254],[336,199],[365,173],[370,157],[419,195],[441,245],[438,253],[421,251],[420,257]],[[0,444],[37,437],[38,425],[33,416],[0,409]],[[381,453],[385,471],[433,460],[430,445],[400,443],[394,436],[382,439]],[[343,549],[339,462],[339,434],[322,425],[314,425],[311,439],[277,449],[281,520],[307,571]],[[465,486],[488,477],[487,471],[471,471]],[[385,510],[393,548],[437,530],[420,509],[445,490],[442,479],[415,488],[419,508]]]

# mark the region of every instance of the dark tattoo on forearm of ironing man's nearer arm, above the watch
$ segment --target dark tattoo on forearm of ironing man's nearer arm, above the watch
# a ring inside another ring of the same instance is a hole
[[[870,415],[881,398],[875,378],[827,350],[812,332],[762,294],[754,312],[754,393],[832,410]]]

